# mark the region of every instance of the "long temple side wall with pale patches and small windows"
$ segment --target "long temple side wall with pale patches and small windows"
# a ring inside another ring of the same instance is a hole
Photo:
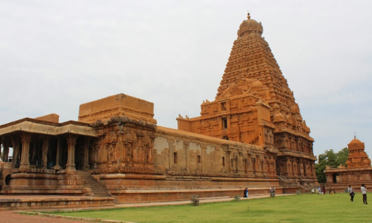
[[[158,127],[154,168],[160,171],[276,176],[274,154],[261,146]]]

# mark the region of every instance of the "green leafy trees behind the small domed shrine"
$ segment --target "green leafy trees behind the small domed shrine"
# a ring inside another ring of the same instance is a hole
[[[346,166],[347,157],[349,156],[349,149],[343,148],[339,152],[335,153],[332,149],[326,150],[323,154],[318,156],[318,163],[315,164],[315,173],[319,183],[326,183],[327,179],[323,171],[326,166],[336,168],[340,164]]]

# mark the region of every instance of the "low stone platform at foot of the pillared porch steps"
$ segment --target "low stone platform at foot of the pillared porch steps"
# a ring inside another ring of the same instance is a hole
[[[0,195],[0,210],[114,206],[113,197]]]

